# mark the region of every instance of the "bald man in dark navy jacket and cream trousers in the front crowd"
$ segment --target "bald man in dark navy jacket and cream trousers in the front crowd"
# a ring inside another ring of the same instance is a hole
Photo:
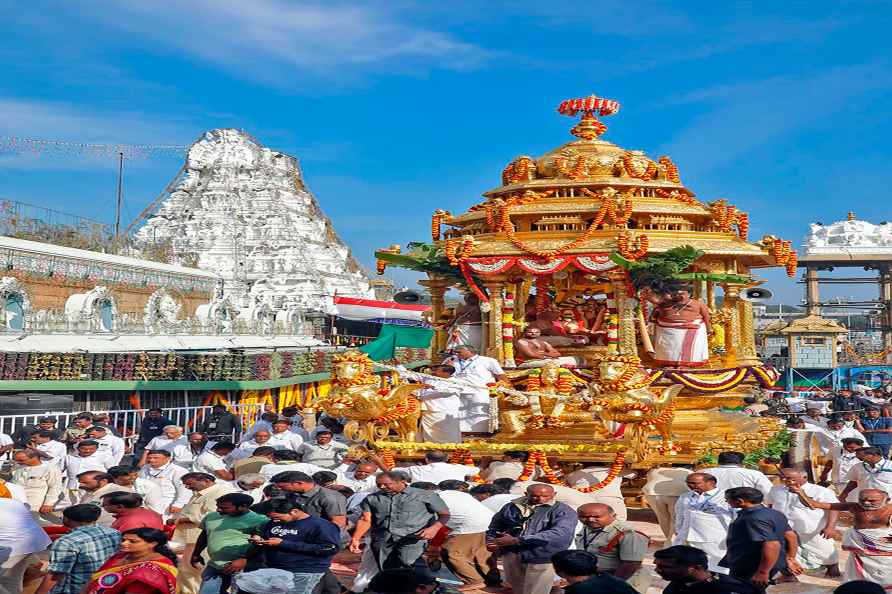
[[[551,556],[566,550],[576,531],[573,508],[554,499],[550,485],[535,484],[499,510],[486,531],[486,548],[498,551],[514,594],[550,592]]]

